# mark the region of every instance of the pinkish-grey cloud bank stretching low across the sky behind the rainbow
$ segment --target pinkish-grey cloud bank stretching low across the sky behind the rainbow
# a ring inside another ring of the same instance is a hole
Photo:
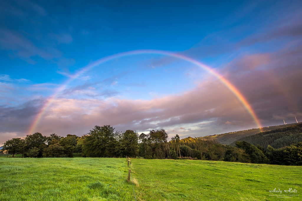
[[[283,119],[287,123],[294,123],[294,117],[302,119],[301,105],[294,104],[302,102],[300,49],[297,46],[270,54],[243,55],[221,70],[250,102],[265,126],[282,124]],[[5,75],[2,77],[11,79]],[[110,124],[119,131],[148,132],[149,129],[164,128],[173,135],[181,129],[185,131],[182,137],[200,137],[255,127],[255,121],[242,103],[215,77],[207,77],[183,93],[152,100],[120,99],[114,90],[95,92],[94,86],[110,85],[115,78],[64,90],[47,108],[35,131],[46,135],[83,135],[94,125]],[[283,85],[286,90],[280,88]],[[81,95],[79,99],[77,94]],[[83,98],[83,94],[87,97]],[[4,132],[27,130],[39,107],[40,104],[29,102],[15,107],[2,106],[1,127]],[[185,130],[185,127],[190,129]]]

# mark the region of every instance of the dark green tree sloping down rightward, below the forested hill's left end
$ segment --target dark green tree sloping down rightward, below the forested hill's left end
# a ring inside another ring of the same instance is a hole
[[[257,149],[256,146],[243,141],[236,141],[236,147],[239,149],[243,149],[246,154],[249,155],[249,160],[251,161],[251,163],[269,163],[268,158],[266,157],[266,155],[262,152],[262,150]]]

